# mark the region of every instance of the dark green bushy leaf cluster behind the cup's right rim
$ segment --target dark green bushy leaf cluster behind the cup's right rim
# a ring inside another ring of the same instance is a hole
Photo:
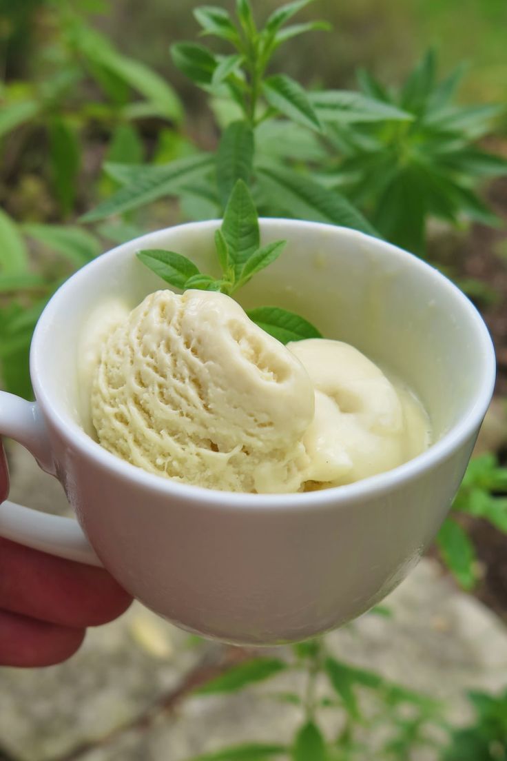
[[[436,78],[436,66],[430,49],[398,89],[386,88],[369,72],[358,72],[365,96],[403,110],[410,119],[335,124],[328,132],[336,166],[328,170],[326,181],[332,183],[334,176],[336,186],[385,238],[420,255],[426,252],[430,217],[499,224],[477,195],[477,186],[507,174],[505,158],[477,146],[505,107],[455,105],[464,66],[442,81]],[[315,94],[314,105],[321,98]]]

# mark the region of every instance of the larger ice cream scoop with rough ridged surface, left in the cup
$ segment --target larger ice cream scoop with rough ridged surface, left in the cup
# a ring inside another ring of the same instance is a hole
[[[220,293],[147,296],[103,347],[91,409],[103,447],[196,486],[296,492],[308,465],[308,373]]]

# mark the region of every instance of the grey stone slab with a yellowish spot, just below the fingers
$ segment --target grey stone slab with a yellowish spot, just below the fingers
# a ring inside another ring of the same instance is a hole
[[[90,629],[65,664],[2,669],[0,747],[20,761],[50,761],[99,742],[178,689],[202,657],[188,635],[136,604]]]

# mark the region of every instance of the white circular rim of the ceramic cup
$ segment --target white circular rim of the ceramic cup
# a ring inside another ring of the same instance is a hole
[[[474,399],[468,406],[466,414],[464,414],[464,416],[462,416],[452,428],[449,428],[439,441],[436,441],[436,443],[432,444],[429,449],[418,454],[417,457],[408,460],[406,463],[391,470],[387,470],[384,473],[378,473],[375,476],[361,479],[360,481],[345,484],[343,486],[332,486],[315,492],[250,494],[244,492],[221,492],[201,486],[192,486],[174,481],[170,478],[164,479],[162,476],[158,476],[154,473],[148,473],[140,467],[116,457],[116,455],[111,454],[98,444],[97,441],[93,441],[84,429],[78,425],[78,422],[67,418],[62,414],[58,407],[53,405],[51,394],[47,393],[46,389],[40,384],[41,374],[38,371],[38,368],[44,361],[44,355],[43,351],[40,350],[40,345],[42,345],[46,336],[47,321],[52,320],[55,314],[58,314],[59,302],[63,298],[62,292],[67,291],[68,288],[72,288],[73,286],[75,287],[76,281],[81,278],[82,272],[85,270],[88,271],[90,268],[94,267],[100,268],[100,263],[103,261],[104,257],[109,258],[110,256],[119,256],[120,252],[124,249],[132,250],[132,244],[141,242],[154,234],[163,235],[164,233],[177,228],[217,228],[217,226],[220,225],[220,220],[212,219],[197,222],[185,222],[172,225],[170,228],[151,231],[106,251],[87,263],[84,267],[81,267],[81,269],[78,269],[77,272],[74,272],[74,274],[71,275],[71,277],[66,280],[57,291],[55,291],[48,304],[46,304],[46,307],[36,324],[30,346],[30,376],[32,379],[33,390],[35,392],[36,401],[40,404],[45,415],[52,421],[53,425],[55,425],[59,431],[64,433],[65,438],[72,442],[75,449],[79,451],[79,454],[82,454],[85,457],[90,457],[99,463],[104,470],[111,470],[116,476],[121,476],[125,480],[137,482],[139,486],[144,486],[147,490],[162,495],[165,494],[168,498],[176,498],[179,501],[194,503],[195,501],[199,501],[201,504],[208,504],[215,507],[218,506],[230,510],[236,510],[238,508],[243,510],[273,510],[273,508],[278,508],[279,510],[294,511],[305,510],[310,507],[327,506],[329,508],[337,508],[338,505],[348,505],[356,503],[357,501],[362,501],[365,498],[371,498],[373,495],[382,495],[394,487],[403,486],[405,483],[409,482],[410,479],[426,473],[439,462],[451,457],[454,451],[457,450],[461,444],[464,444],[464,442],[467,441],[467,438],[470,438],[471,435],[473,435],[476,428],[479,428],[483,416],[486,413],[486,409],[490,404],[491,397],[493,396],[496,377],[496,357],[493,341],[487,330],[486,324],[480,316],[477,308],[467,296],[465,296],[454,283],[446,278],[445,275],[442,275],[439,270],[430,266],[418,256],[415,256],[394,244],[390,244],[381,238],[373,237],[351,228],[344,228],[323,222],[288,218],[259,218],[261,232],[263,229],[266,231],[269,228],[276,228],[280,224],[288,224],[294,228],[313,228],[315,230],[325,229],[328,231],[334,231],[337,235],[359,237],[360,240],[366,240],[369,246],[375,246],[379,249],[382,248],[384,251],[389,251],[391,255],[401,257],[404,260],[406,260],[406,257],[408,256],[412,260],[411,266],[419,268],[426,273],[428,270],[431,271],[432,277],[448,288],[458,301],[461,301],[464,310],[467,310],[469,317],[474,322],[477,331],[477,346],[482,348],[484,359],[483,383],[481,384],[479,392],[475,394]]]

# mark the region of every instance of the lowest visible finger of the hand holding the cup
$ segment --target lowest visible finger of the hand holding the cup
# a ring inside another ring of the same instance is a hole
[[[56,626],[0,610],[0,666],[62,663],[78,650],[84,634],[84,629]]]

